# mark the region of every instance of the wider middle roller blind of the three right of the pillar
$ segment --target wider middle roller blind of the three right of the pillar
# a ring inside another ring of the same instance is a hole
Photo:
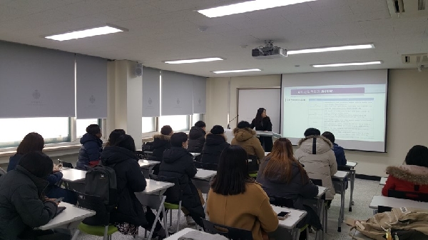
[[[162,115],[193,114],[193,76],[162,71]]]

